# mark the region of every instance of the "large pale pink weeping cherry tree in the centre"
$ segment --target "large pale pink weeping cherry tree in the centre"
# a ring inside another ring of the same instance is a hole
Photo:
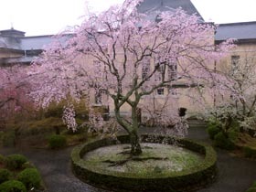
[[[31,94],[43,106],[67,93],[80,98],[93,89],[107,95],[117,123],[130,135],[133,155],[142,153],[137,109],[144,97],[160,88],[173,89],[177,77],[188,86],[207,83],[213,60],[230,47],[229,42],[215,47],[215,26],[198,22],[197,16],[177,9],[162,13],[155,22],[137,12],[138,3],[126,0],[98,16],[92,14],[68,41],[62,37],[50,45],[35,62],[37,91]],[[148,60],[151,65],[142,76]],[[168,75],[168,69],[177,69],[176,77]],[[121,115],[125,104],[131,108],[131,121]]]

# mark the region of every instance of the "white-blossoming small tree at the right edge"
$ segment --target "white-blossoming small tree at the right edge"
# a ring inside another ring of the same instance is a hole
[[[217,101],[209,116],[218,120],[224,133],[234,124],[253,129],[256,125],[256,69],[255,56],[245,55],[232,66],[222,66]]]

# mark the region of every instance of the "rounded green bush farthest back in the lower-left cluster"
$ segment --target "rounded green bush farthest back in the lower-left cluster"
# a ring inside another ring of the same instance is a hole
[[[6,167],[11,170],[20,169],[26,162],[27,158],[24,155],[8,155],[5,158]]]

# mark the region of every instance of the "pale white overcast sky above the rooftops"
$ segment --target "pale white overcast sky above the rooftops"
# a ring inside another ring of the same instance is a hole
[[[14,27],[27,36],[56,34],[80,25],[85,0],[0,0],[0,30]],[[256,0],[191,0],[206,21],[234,23],[256,21]],[[87,0],[101,11],[123,0]]]

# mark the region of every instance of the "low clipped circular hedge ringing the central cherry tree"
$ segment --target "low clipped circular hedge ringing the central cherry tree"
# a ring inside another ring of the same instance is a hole
[[[154,139],[152,139],[154,138]],[[173,144],[174,138],[160,135],[141,135],[142,143]],[[129,136],[118,136],[121,144],[129,144]],[[192,192],[211,184],[217,176],[217,155],[214,149],[205,144],[198,144],[187,139],[177,139],[176,144],[203,156],[202,162],[193,168],[177,172],[175,175],[146,175],[133,176],[133,174],[119,172],[101,172],[93,165],[86,164],[83,156],[103,146],[117,144],[112,139],[101,139],[88,144],[75,147],[71,153],[73,172],[81,180],[95,187],[112,191],[169,191]]]

